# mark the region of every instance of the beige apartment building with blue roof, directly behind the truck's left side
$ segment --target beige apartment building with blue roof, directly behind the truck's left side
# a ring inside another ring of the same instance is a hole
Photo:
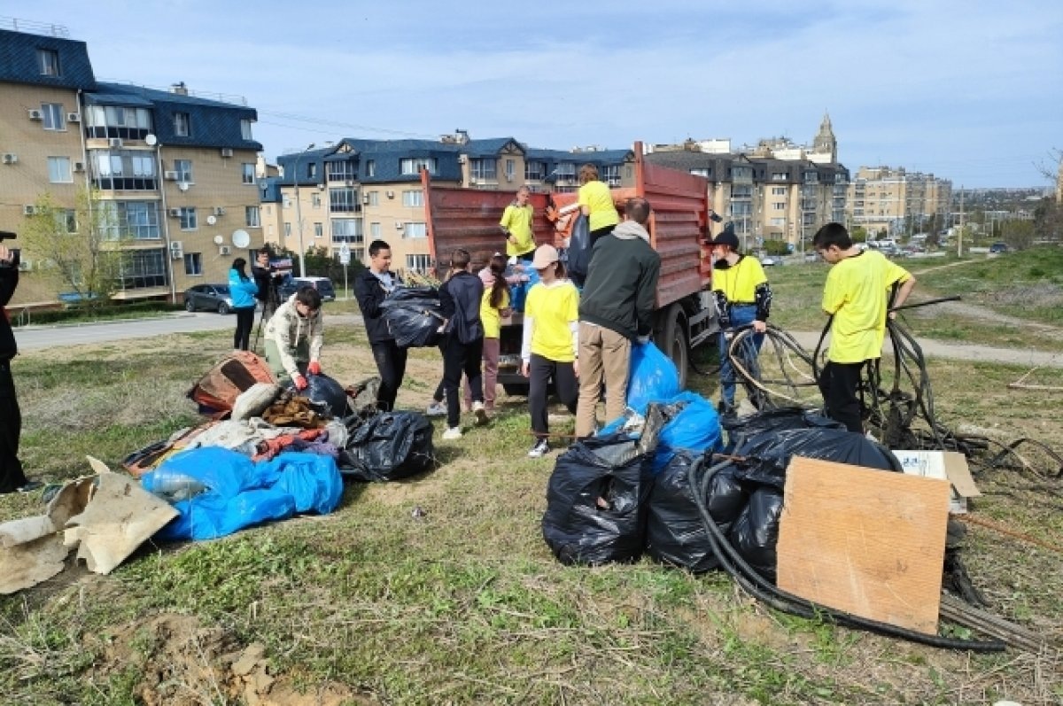
[[[576,188],[587,163],[610,185],[629,185],[634,158],[630,150],[535,149],[512,137],[472,139],[463,131],[439,140],[311,145],[277,157],[283,175],[259,182],[265,237],[296,253],[336,252],[347,243],[352,262],[362,263],[368,243],[383,239],[391,246],[393,267],[426,270],[433,263],[422,169],[444,186],[555,191]]]

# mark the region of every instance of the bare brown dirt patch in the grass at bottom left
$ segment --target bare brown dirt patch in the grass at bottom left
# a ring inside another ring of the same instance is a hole
[[[134,670],[133,687],[147,706],[231,703],[248,706],[340,706],[374,704],[342,684],[326,682],[299,689],[277,674],[265,645],[239,645],[222,627],[204,627],[193,616],[163,613],[86,639],[102,653],[100,676]]]

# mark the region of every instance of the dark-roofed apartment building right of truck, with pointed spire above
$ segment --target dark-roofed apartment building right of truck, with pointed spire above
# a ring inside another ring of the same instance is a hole
[[[653,149],[647,161],[710,181],[712,207],[735,223],[744,249],[782,240],[803,250],[821,225],[844,219],[849,172],[838,163],[829,116],[811,146],[781,137],[737,151],[728,139],[690,139]]]

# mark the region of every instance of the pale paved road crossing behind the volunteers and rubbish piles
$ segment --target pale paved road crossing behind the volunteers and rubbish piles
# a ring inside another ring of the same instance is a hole
[[[332,324],[360,325],[361,317],[356,314],[326,315]],[[255,321],[257,325],[257,319]],[[81,325],[27,326],[18,329],[16,337],[22,351],[35,351],[60,346],[81,346],[106,343],[115,340],[149,338],[173,333],[196,331],[232,330],[236,319],[217,314],[178,314],[170,317],[138,319],[135,321],[112,321]],[[794,338],[808,351],[815,349],[820,334],[815,332],[791,332]],[[918,339],[923,353],[930,358],[956,360],[982,360],[986,363],[1008,363],[1032,367],[1063,368],[1063,352],[1049,353],[991,346],[967,346],[945,343],[925,338]]]

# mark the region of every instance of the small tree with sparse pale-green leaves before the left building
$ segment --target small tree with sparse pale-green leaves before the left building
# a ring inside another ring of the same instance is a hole
[[[124,237],[98,195],[79,189],[75,207],[66,208],[46,191],[28,221],[26,249],[41,263],[43,274],[81,306],[108,305],[119,285]]]

